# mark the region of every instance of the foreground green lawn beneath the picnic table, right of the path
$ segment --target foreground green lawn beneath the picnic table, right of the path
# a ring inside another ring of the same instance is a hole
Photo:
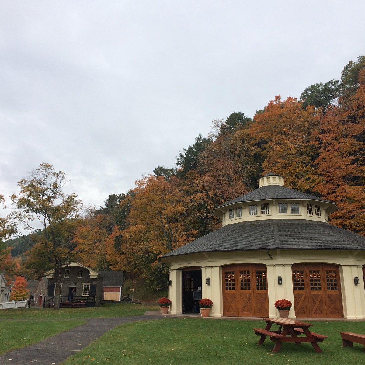
[[[365,333],[364,322],[317,322],[313,331],[328,335],[320,347],[309,343],[284,343],[279,353],[271,353],[274,343],[259,339],[253,327],[265,323],[249,320],[171,318],[123,324],[107,332],[63,364],[362,364],[364,346],[342,347],[339,331]]]

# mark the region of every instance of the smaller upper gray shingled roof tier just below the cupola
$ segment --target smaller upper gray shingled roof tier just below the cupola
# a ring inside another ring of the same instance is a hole
[[[256,201],[256,200],[269,200],[269,199],[296,199],[296,200],[317,200],[317,201],[325,201],[326,203],[331,203],[336,206],[330,200],[321,199],[317,196],[302,193],[300,191],[296,191],[293,189],[285,188],[282,185],[266,185],[261,188],[250,191],[247,194],[241,195],[238,198],[227,201],[227,203],[219,205],[219,207],[224,207],[226,205],[234,204],[234,203],[243,203],[248,201]],[[336,209],[338,210],[338,209]]]

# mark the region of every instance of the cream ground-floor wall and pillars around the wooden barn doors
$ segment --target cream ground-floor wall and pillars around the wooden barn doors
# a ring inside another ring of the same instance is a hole
[[[270,257],[271,256],[271,257]],[[171,260],[170,262],[167,261]],[[364,251],[304,251],[304,250],[270,250],[241,251],[192,254],[164,258],[170,265],[172,285],[169,298],[172,300],[171,313],[181,313],[181,269],[189,266],[201,267],[202,297],[213,301],[211,316],[223,316],[222,266],[229,264],[264,264],[267,267],[269,316],[276,318],[278,313],[274,303],[278,299],[289,299],[293,303],[293,286],[291,266],[299,263],[326,263],[339,265],[344,318],[365,319],[365,289],[362,277],[362,265],[365,265]],[[283,278],[278,285],[277,278]],[[205,284],[210,277],[211,285]],[[360,279],[360,285],[354,285],[354,277]],[[295,308],[289,312],[295,318]]]

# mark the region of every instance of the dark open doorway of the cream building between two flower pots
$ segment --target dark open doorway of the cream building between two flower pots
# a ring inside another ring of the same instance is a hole
[[[196,293],[199,291],[200,293]],[[199,313],[196,298],[201,298],[201,268],[183,269],[183,313]]]

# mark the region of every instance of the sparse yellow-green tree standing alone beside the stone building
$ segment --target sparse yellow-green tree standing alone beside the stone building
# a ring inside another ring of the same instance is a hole
[[[76,194],[63,192],[66,183],[63,171],[55,172],[53,166],[43,163],[18,182],[19,195],[11,196],[17,208],[11,214],[12,222],[19,226],[17,234],[25,237],[24,231],[41,232],[34,237],[37,244],[30,250],[34,267],[27,269],[39,273],[39,264],[47,261],[48,267],[43,270],[54,270],[55,309],[59,308],[61,266],[73,260],[72,233],[81,210]]]

